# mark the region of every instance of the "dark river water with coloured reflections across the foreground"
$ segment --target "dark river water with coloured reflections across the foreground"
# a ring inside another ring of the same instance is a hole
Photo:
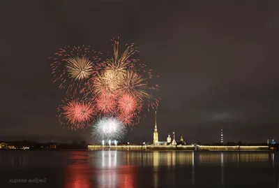
[[[276,187],[279,152],[0,151],[0,187]]]

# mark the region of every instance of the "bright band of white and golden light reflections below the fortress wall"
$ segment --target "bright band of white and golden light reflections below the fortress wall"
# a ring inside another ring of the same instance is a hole
[[[119,160],[117,160],[119,155]],[[195,166],[195,164],[245,164],[250,162],[266,162],[275,166],[274,153],[255,152],[181,152],[181,151],[153,151],[153,152],[123,152],[98,151],[93,152],[91,164],[93,166],[115,167],[121,165],[137,166]],[[100,163],[100,159],[102,162]]]

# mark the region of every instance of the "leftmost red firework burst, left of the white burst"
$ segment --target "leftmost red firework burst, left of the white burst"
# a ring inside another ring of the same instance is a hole
[[[67,124],[69,129],[84,129],[89,126],[95,115],[92,103],[71,100],[66,105],[59,106],[59,120]]]

